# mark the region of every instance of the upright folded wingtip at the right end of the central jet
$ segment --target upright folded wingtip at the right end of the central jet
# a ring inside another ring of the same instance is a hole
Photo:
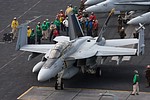
[[[139,25],[140,25],[140,27],[136,30],[139,33],[139,43],[138,43],[138,51],[137,51],[138,56],[144,54],[144,47],[145,47],[145,44],[144,44],[145,27],[141,23],[139,23]]]

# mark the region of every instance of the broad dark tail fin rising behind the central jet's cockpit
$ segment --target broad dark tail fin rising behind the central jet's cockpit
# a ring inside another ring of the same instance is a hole
[[[68,14],[68,23],[69,23],[70,40],[82,37],[84,35],[83,30],[75,14],[72,13]]]

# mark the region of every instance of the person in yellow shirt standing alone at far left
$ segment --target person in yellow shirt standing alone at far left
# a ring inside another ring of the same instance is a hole
[[[12,23],[11,23],[11,28],[12,28],[12,33],[13,33],[13,40],[16,38],[16,34],[17,34],[17,27],[18,27],[19,23],[16,17],[14,17]]]

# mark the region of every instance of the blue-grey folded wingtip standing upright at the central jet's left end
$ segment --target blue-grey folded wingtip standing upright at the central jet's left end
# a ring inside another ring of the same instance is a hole
[[[27,44],[27,23],[18,26],[18,39],[16,44],[16,50],[19,50],[22,46]]]

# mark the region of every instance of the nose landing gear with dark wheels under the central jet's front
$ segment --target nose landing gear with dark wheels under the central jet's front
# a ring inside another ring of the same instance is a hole
[[[55,83],[55,89],[56,90],[63,90],[64,89],[64,83],[62,82],[63,74],[64,74],[64,70],[59,72],[57,75],[57,81]]]

